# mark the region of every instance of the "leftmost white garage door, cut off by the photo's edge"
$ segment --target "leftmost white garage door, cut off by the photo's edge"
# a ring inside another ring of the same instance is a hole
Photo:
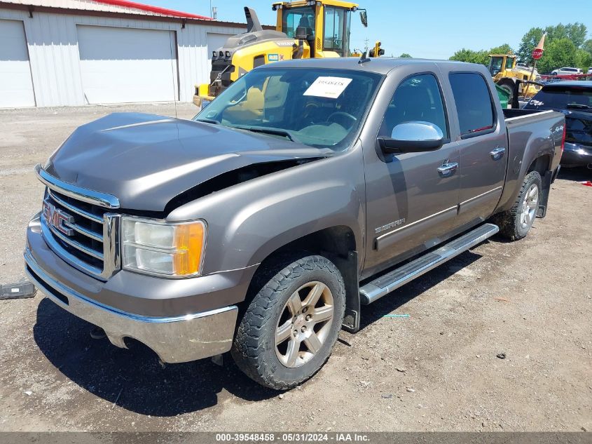
[[[0,108],[34,106],[25,27],[17,20],[0,20]]]

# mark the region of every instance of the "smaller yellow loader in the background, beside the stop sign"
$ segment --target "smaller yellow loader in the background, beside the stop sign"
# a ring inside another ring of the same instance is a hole
[[[512,101],[514,95],[514,87],[516,80],[539,80],[539,74],[535,69],[525,66],[516,66],[516,55],[511,54],[490,54],[489,55],[489,72],[493,81],[504,89],[509,94],[509,102]],[[532,76],[532,79],[530,78]],[[519,86],[518,94],[526,99],[530,99],[540,89],[540,86],[528,84],[528,86]]]

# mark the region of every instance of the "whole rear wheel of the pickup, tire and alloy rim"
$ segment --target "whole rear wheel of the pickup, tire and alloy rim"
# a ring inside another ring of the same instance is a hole
[[[528,234],[539,210],[542,190],[541,175],[532,171],[526,175],[514,206],[493,217],[500,226],[500,234],[511,241],[518,241]]]

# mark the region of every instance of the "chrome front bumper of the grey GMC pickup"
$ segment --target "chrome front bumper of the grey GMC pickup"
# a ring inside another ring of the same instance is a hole
[[[103,328],[111,343],[118,347],[126,348],[124,338],[131,337],[151,348],[167,363],[195,361],[230,350],[238,316],[236,305],[178,316],[149,316],[99,302],[98,296],[106,291],[104,286],[109,282],[102,283],[83,274],[49,250],[39,230],[39,217],[35,217],[27,229],[25,271],[50,300],[74,316]],[[120,271],[113,278],[122,273]],[[199,293],[195,297],[212,295],[216,298],[219,295],[219,292],[211,292],[214,288],[208,277],[195,278],[202,279],[202,287],[193,288]],[[233,281],[231,278],[227,280]],[[184,285],[183,281],[172,280],[167,285]],[[128,286],[133,288],[134,283],[130,282]],[[227,290],[238,292],[242,288],[239,285]],[[122,298],[125,296],[121,295]],[[136,302],[139,305],[142,300]],[[163,304],[170,306],[171,302],[164,300]]]

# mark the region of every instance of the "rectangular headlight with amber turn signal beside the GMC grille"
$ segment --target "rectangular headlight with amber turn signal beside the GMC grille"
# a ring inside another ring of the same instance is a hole
[[[168,223],[142,217],[121,218],[123,268],[158,276],[200,274],[205,223]]]

